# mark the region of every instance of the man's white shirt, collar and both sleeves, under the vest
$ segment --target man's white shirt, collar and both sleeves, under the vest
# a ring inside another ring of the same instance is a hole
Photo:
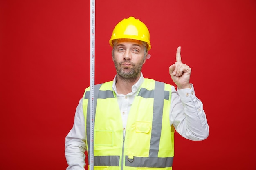
[[[144,77],[141,73],[140,79],[132,86],[132,92],[127,95],[117,93],[116,78],[117,76],[114,78],[112,88],[117,96],[125,135],[128,113]],[[171,88],[170,126],[173,124],[175,130],[186,139],[193,141],[206,139],[209,135],[209,126],[203,104],[195,96],[193,84],[191,84],[191,89],[177,89],[176,91],[174,86]],[[65,156],[69,165],[67,170],[84,170],[85,166],[85,118],[82,101],[83,99],[80,99],[76,108],[74,125],[65,141]]]

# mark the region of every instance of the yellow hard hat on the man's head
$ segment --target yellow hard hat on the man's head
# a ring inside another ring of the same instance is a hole
[[[133,39],[147,43],[148,50],[151,49],[150,35],[147,26],[134,17],[124,18],[114,28],[112,36],[109,40],[110,46],[114,46],[113,40],[117,39]]]

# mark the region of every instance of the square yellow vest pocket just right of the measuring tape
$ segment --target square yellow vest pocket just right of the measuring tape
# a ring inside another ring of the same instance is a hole
[[[94,146],[114,146],[112,130],[94,130]]]

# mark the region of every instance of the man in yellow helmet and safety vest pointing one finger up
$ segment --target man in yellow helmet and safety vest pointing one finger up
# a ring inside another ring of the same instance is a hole
[[[174,128],[183,137],[199,141],[209,135],[209,126],[189,83],[191,68],[176,61],[169,67],[174,86],[146,79],[142,65],[150,55],[149,31],[130,17],[113,30],[110,46],[117,70],[113,81],[96,85],[94,100],[94,168],[99,170],[171,170]],[[67,170],[83,170],[85,150],[90,146],[90,88],[76,108],[74,126],[65,142]]]

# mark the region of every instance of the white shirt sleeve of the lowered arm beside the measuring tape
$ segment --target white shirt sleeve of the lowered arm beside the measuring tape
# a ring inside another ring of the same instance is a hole
[[[85,167],[85,119],[82,107],[83,99],[76,107],[74,124],[65,140],[65,156],[68,167],[66,170],[84,170]]]

